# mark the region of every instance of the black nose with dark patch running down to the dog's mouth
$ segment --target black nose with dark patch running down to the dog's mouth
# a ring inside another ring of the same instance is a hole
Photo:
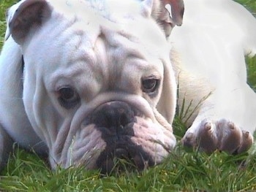
[[[132,142],[134,124],[143,115],[124,101],[110,101],[97,107],[90,115],[89,123],[102,133],[106,143],[96,165],[102,172],[110,172],[118,159],[125,159],[136,169],[153,166],[151,159],[140,145]]]

